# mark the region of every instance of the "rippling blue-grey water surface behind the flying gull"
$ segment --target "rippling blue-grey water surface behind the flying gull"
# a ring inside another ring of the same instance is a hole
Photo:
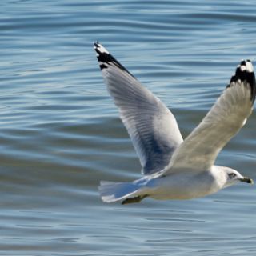
[[[0,4],[1,255],[255,255],[255,186],[121,206],[100,179],[140,177],[93,42],[174,112],[183,137],[242,58],[255,60],[254,1]],[[255,174],[256,117],[218,165]]]

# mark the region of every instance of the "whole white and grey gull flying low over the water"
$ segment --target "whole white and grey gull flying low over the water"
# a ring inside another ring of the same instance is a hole
[[[143,174],[134,182],[101,181],[98,190],[103,202],[186,200],[216,193],[237,182],[253,184],[237,170],[214,165],[220,150],[252,113],[256,83],[250,60],[242,60],[206,117],[183,140],[174,115],[160,99],[100,43],[94,42],[94,50]]]

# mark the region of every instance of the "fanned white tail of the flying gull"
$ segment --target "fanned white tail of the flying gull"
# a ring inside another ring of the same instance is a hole
[[[132,182],[105,182],[98,186],[103,202],[117,202],[122,199],[138,196],[140,186]]]

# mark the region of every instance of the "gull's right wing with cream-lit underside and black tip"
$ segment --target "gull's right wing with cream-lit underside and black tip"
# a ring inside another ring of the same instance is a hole
[[[222,147],[246,123],[253,110],[255,90],[252,63],[242,61],[209,113],[174,152],[164,174],[209,170]]]

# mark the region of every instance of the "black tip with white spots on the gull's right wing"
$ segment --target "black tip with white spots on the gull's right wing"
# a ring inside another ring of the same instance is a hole
[[[254,66],[249,59],[242,60],[240,65],[238,65],[235,70],[234,76],[230,78],[230,84],[232,82],[248,82],[250,84],[251,90],[251,101],[254,102],[255,94],[256,94],[256,82],[255,82],[255,74],[254,74]],[[227,87],[230,87],[230,84]]]

